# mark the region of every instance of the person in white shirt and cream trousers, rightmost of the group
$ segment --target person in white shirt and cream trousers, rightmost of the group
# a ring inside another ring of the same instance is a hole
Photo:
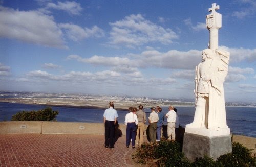
[[[174,106],[169,106],[169,112],[165,115],[167,117],[167,133],[168,140],[175,140],[175,123],[176,123],[176,112],[174,111]]]

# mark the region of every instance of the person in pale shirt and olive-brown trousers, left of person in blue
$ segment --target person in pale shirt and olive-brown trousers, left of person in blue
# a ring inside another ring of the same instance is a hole
[[[150,131],[150,142],[156,142],[157,136],[157,122],[159,120],[158,114],[155,112],[155,107],[151,107],[150,117],[148,117],[148,123],[150,123],[149,131]]]

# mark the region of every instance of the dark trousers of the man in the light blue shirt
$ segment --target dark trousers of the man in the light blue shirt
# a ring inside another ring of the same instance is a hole
[[[115,122],[107,121],[105,122],[105,146],[114,146],[115,137]]]

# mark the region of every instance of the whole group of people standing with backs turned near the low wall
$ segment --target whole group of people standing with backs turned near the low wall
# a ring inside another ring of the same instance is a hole
[[[175,140],[175,127],[177,120],[177,109],[169,106],[166,114],[162,113],[162,108],[151,107],[151,113],[148,117],[148,131],[150,142],[154,143],[160,141],[161,130],[165,117],[167,117],[167,134],[169,140]],[[126,114],[124,124],[126,125],[126,147],[129,148],[132,142],[132,148],[135,148],[135,141],[137,145],[143,143],[143,135],[147,121],[146,113],[143,111],[143,106],[129,107],[129,113]],[[117,122],[117,111],[114,109],[114,103],[109,103],[109,108],[105,110],[104,114],[105,124],[105,147],[114,148],[114,133],[115,124]]]

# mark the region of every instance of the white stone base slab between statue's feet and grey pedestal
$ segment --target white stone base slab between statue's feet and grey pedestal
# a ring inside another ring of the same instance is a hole
[[[214,136],[225,136],[230,135],[230,129],[206,129],[206,128],[185,128],[186,133],[197,134],[201,136],[214,137]]]

